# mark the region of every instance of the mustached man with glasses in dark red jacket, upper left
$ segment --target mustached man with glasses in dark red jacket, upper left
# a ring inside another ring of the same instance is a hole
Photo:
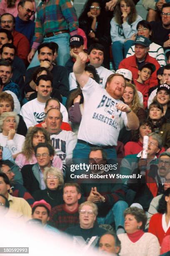
[[[15,17],[10,13],[2,14],[2,16],[0,17],[0,26],[1,28],[5,28],[12,33],[14,39],[14,46],[17,49],[16,54],[27,65],[27,56],[30,51],[30,43],[26,36],[15,30]]]

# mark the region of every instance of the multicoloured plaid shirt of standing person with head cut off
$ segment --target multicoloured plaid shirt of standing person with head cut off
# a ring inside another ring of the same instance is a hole
[[[33,41],[41,44],[47,33],[61,30],[72,32],[77,27],[77,15],[70,0],[46,0],[37,7]]]

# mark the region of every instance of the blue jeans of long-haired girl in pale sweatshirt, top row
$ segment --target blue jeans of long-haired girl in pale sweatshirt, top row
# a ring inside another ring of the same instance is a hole
[[[115,41],[112,43],[112,56],[115,70],[118,69],[120,61],[126,58],[126,54],[133,44],[133,40],[127,40],[125,43],[122,43],[121,41]]]

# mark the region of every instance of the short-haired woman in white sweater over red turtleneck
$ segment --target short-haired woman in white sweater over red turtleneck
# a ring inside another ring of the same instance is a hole
[[[121,242],[119,255],[159,256],[160,245],[156,236],[145,233],[147,216],[138,207],[129,207],[124,211],[126,233],[118,235]]]

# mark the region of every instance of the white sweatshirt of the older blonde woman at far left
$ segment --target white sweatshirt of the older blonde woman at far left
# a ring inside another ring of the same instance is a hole
[[[20,153],[23,148],[25,137],[18,133],[15,133],[13,140],[7,140],[7,136],[0,133],[0,145],[9,148],[12,155]]]

